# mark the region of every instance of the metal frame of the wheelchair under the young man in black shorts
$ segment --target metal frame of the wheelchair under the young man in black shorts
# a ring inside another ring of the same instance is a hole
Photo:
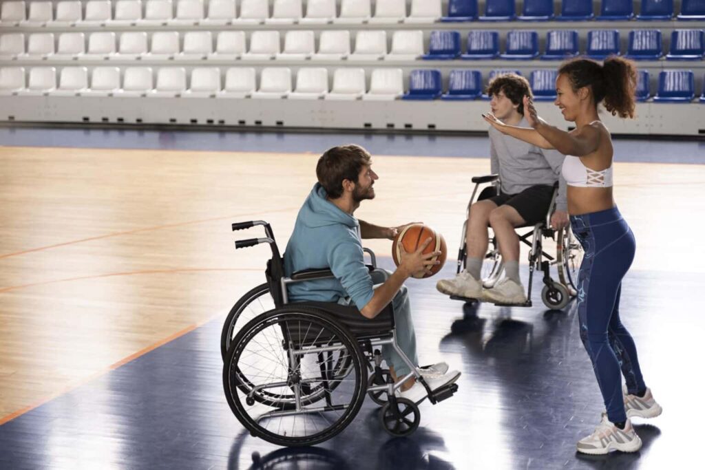
[[[480,185],[492,183],[494,187],[500,187],[499,175],[496,174],[474,176],[472,178],[472,183],[474,183],[475,186],[472,190],[472,195],[470,196],[470,202],[468,202],[467,204],[467,209],[465,211],[465,221],[462,224],[462,234],[460,235],[460,249],[458,249],[458,266],[456,269],[456,273],[460,273],[460,271],[465,268],[465,261],[467,259],[467,240],[465,239],[467,233],[467,221],[470,218],[470,209],[472,204],[474,202],[477,202],[475,201],[475,195],[477,194]],[[487,189],[489,189],[489,187],[484,188],[484,190]],[[573,246],[573,244],[570,243],[570,237],[572,236],[572,234],[570,233],[570,225],[568,226],[568,228],[560,230],[553,230],[552,228],[550,228],[549,221],[551,218],[551,214],[553,214],[553,209],[556,205],[557,193],[558,183],[554,185],[553,196],[551,197],[551,204],[548,206],[548,214],[546,214],[546,218],[544,219],[544,221],[534,224],[532,230],[530,230],[529,232],[523,235],[519,234],[520,242],[531,247],[528,256],[529,283],[527,285],[527,302],[523,304],[496,303],[495,305],[507,307],[532,307],[531,293],[534,282],[534,271],[537,268],[539,268],[544,273],[544,289],[541,291],[541,298],[543,299],[546,307],[548,307],[549,309],[563,309],[563,307],[565,307],[565,305],[570,302],[570,299],[572,299],[572,297],[575,297],[575,295],[577,294],[572,277],[570,275],[565,276],[564,273],[564,271],[568,271],[568,269],[565,267],[567,261],[563,259],[563,246],[565,245],[566,241],[568,242],[568,246]],[[482,192],[477,194],[477,196],[478,201],[486,199],[480,199],[482,197]],[[530,226],[531,225],[522,225],[520,227],[517,227],[517,229],[527,228]],[[558,257],[554,258],[553,256],[551,256],[551,254],[548,254],[544,251],[542,239],[544,237],[550,237],[552,240],[556,240],[556,234],[558,235],[558,245],[556,249]],[[527,240],[529,237],[532,237],[531,242]],[[494,261],[494,264],[491,267],[489,276],[482,279],[482,285],[485,288],[493,287],[495,283],[499,280],[503,271],[503,262],[501,261],[501,254],[499,252],[496,237],[492,237],[490,242],[493,245],[493,248],[489,250],[487,254],[485,254],[484,259],[492,259]],[[578,249],[577,247],[579,246],[580,245],[575,244],[575,249]],[[551,278],[552,264],[556,264],[558,266],[558,282]],[[566,278],[568,278],[568,282],[566,282]],[[474,299],[472,297],[460,297],[457,295],[451,295],[450,298],[454,300],[461,300],[463,302],[482,302],[482,299]]]

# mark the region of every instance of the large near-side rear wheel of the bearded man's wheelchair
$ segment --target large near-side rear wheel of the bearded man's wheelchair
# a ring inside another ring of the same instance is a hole
[[[347,374],[338,376],[345,358]],[[314,445],[353,420],[367,390],[364,370],[355,338],[331,314],[283,307],[240,328],[223,366],[223,388],[252,435],[277,445]]]

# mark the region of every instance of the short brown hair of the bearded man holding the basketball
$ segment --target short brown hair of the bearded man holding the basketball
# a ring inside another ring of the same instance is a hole
[[[359,145],[349,144],[333,147],[318,159],[316,176],[331,199],[343,194],[343,180],[357,183],[362,166],[372,163],[369,152]]]

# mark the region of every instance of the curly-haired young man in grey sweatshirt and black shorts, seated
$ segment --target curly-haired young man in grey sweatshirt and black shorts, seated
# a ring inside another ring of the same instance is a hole
[[[529,127],[522,101],[525,96],[532,97],[527,79],[514,73],[498,75],[489,83],[487,94],[494,116],[511,125]],[[559,229],[568,225],[565,180],[560,173],[565,157],[556,150],[527,144],[495,128],[489,129],[489,142],[491,173],[499,174],[500,194],[472,204],[465,234],[465,270],[453,279],[439,280],[436,288],[448,295],[523,304],[527,297],[519,277],[520,241],[514,228],[544,220],[556,181],[558,196],[551,226]],[[491,289],[484,289],[480,272],[489,245],[488,224],[497,237],[505,277]]]

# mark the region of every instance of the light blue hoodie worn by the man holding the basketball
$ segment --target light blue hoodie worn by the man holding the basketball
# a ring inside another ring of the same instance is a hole
[[[309,280],[288,286],[290,302],[338,302],[350,297],[358,309],[372,299],[372,277],[364,264],[360,222],[326,199],[316,183],[299,211],[284,254],[284,273],[330,268],[335,279]]]

